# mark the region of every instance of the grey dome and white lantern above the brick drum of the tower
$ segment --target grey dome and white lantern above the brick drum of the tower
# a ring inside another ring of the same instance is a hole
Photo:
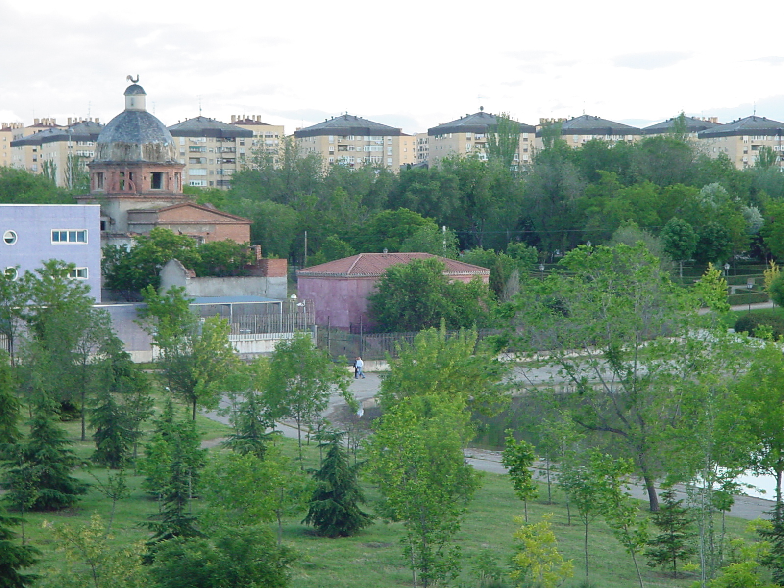
[[[177,163],[172,133],[147,112],[146,96],[136,83],[125,89],[125,111],[103,127],[96,140],[94,162]]]

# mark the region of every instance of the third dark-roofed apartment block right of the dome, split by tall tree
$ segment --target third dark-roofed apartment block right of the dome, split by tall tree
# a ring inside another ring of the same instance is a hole
[[[525,163],[533,154],[536,128],[514,122],[520,129],[520,149],[514,161]],[[495,114],[480,110],[427,129],[428,163],[437,165],[442,158],[455,155],[476,155],[480,159],[487,159],[488,132],[492,132],[496,124]]]

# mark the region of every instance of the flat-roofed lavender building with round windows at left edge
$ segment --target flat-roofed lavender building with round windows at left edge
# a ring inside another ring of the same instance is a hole
[[[0,238],[0,270],[74,263],[71,278],[85,281],[100,302],[100,205],[2,204]]]

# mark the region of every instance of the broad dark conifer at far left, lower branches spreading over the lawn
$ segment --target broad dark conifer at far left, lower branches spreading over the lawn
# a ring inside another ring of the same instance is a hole
[[[34,500],[27,500],[18,492],[13,506],[24,508],[28,503],[31,510],[59,510],[72,506],[79,495],[87,492],[87,485],[71,476],[71,470],[79,460],[71,449],[65,431],[56,424],[56,413],[49,407],[38,407],[31,420],[30,436],[24,443],[12,445],[6,464],[2,488],[11,489],[22,481],[34,477],[35,485],[29,485]]]

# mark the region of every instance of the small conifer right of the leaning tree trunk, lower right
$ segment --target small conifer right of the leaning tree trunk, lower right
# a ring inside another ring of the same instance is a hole
[[[662,504],[659,511],[652,513],[652,522],[661,533],[648,541],[651,549],[646,550],[648,555],[648,565],[655,568],[657,565],[672,567],[673,578],[677,578],[678,561],[682,561],[696,553],[695,547],[689,540],[695,536],[691,531],[691,524],[694,519],[690,516],[687,508],[684,508],[683,500],[675,499],[675,491],[667,490],[662,492]]]

